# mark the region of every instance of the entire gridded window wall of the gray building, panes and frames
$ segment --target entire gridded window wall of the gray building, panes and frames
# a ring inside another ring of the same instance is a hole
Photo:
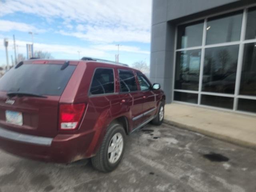
[[[256,112],[256,6],[180,25],[176,35],[175,101]]]

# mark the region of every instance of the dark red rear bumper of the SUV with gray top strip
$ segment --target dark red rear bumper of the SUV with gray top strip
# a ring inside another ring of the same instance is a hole
[[[35,160],[69,163],[90,157],[86,153],[93,136],[94,131],[90,131],[70,135],[58,134],[55,138],[48,138],[0,128],[0,148]]]

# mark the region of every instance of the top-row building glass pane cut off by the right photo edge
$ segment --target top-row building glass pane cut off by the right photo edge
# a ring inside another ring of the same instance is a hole
[[[256,7],[250,8],[247,15],[245,39],[256,38]]]

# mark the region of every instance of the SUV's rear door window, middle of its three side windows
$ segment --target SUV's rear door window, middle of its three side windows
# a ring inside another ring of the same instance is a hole
[[[120,79],[120,92],[137,91],[134,74],[130,70],[118,70]]]

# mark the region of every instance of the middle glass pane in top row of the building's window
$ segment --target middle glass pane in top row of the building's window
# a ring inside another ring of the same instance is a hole
[[[206,27],[206,44],[239,41],[242,11],[210,18]]]

